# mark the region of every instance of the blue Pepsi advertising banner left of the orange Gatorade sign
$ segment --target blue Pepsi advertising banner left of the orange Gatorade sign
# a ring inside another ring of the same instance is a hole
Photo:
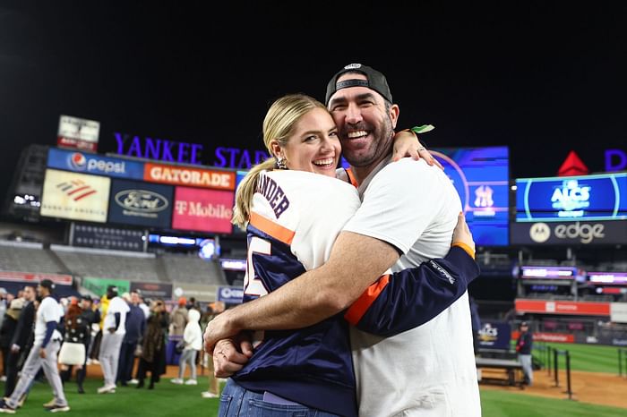
[[[143,162],[73,150],[49,149],[47,166],[85,174],[143,179]]]

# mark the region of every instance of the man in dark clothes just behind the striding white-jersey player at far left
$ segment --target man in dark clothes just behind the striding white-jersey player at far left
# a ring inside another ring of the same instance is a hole
[[[32,325],[35,320],[35,288],[32,285],[24,286],[22,291],[24,304],[21,307],[20,318],[11,339],[11,351],[6,362],[6,382],[4,384],[4,396],[9,397],[13,393],[17,382],[18,365],[21,358],[26,357],[30,351],[28,345],[32,334]]]

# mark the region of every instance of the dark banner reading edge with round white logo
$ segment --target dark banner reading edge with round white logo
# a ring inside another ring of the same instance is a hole
[[[627,220],[511,223],[511,244],[600,245],[627,243]]]

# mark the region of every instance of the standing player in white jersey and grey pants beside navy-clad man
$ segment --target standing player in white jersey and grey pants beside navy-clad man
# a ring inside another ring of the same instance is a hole
[[[105,385],[98,388],[99,394],[116,392],[117,365],[120,361],[120,347],[126,333],[126,313],[130,310],[126,302],[117,296],[116,285],[107,286],[108,307],[102,329],[99,362]]]

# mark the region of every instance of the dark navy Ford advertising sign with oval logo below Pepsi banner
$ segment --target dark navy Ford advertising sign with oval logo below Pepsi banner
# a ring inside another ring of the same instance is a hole
[[[169,185],[113,180],[108,221],[167,229],[172,217],[173,192]]]

